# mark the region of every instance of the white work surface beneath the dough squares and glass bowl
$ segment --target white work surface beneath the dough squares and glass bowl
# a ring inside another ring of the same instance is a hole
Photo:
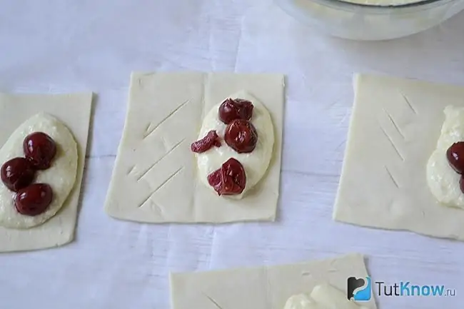
[[[353,251],[368,255],[373,280],[456,290],[380,298],[381,309],[463,307],[464,243],[331,220],[353,71],[464,84],[463,14],[406,39],[358,43],[321,36],[268,0],[0,0],[0,8],[0,91],[98,93],[76,241],[0,255],[0,308],[168,309],[170,270]],[[106,216],[133,70],[288,74],[278,221],[156,226]]]

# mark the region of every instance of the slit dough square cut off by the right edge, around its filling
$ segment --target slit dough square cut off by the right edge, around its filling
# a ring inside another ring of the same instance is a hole
[[[333,218],[359,226],[464,240],[464,211],[440,205],[426,178],[446,106],[464,87],[357,75]]]

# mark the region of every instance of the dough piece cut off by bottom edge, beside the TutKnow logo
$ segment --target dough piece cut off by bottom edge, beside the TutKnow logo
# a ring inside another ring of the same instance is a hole
[[[171,273],[171,305],[173,309],[283,309],[292,295],[309,294],[316,285],[328,283],[346,293],[349,277],[366,276],[363,255],[358,253],[288,265]],[[358,305],[376,308],[374,297]]]

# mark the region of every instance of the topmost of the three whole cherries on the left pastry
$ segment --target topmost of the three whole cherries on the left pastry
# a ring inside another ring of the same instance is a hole
[[[56,155],[56,144],[46,133],[34,132],[24,138],[23,151],[34,168],[46,170]]]

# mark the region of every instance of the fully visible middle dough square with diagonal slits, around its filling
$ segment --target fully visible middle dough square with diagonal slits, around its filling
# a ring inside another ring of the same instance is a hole
[[[128,112],[106,196],[106,213],[148,223],[273,221],[279,193],[283,75],[133,73]],[[190,145],[203,116],[247,91],[268,108],[275,143],[266,175],[241,200],[218,196],[198,178]]]

